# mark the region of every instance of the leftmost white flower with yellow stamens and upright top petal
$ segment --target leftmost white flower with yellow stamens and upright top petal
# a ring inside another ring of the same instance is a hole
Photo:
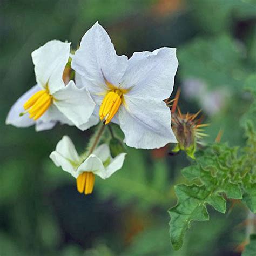
[[[95,102],[86,88],[78,89],[73,81],[66,86],[63,71],[68,63],[70,43],[53,40],[31,56],[37,84],[12,106],[6,124],[36,130],[51,129],[57,121],[85,130],[98,120],[92,116]]]

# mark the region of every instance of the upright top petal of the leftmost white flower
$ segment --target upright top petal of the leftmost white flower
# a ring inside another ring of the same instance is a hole
[[[52,40],[31,54],[37,83],[43,87],[48,84],[51,94],[64,87],[62,75],[69,53],[70,43]]]

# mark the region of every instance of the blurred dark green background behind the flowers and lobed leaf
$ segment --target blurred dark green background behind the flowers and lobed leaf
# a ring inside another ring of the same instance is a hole
[[[75,49],[96,21],[119,54],[176,47],[181,110],[203,109],[209,142],[222,130],[222,142],[244,144],[238,120],[250,102],[242,86],[255,72],[254,0],[2,0],[0,255],[240,255],[247,213],[233,201],[228,216],[213,212],[210,221],[194,223],[182,250],[173,251],[167,210],[190,160],[184,153],[169,156],[170,145],[127,149],[123,169],[96,179],[85,197],[49,154],[64,134],[82,150],[93,129],[57,125],[37,133],[4,124],[15,100],[35,84],[31,52],[51,39]]]

